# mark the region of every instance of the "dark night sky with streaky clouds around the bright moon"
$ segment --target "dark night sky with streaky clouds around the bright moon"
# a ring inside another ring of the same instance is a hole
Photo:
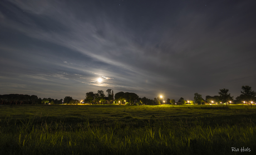
[[[0,1],[0,94],[178,101],[256,89],[256,1]],[[100,83],[98,78],[102,78]]]

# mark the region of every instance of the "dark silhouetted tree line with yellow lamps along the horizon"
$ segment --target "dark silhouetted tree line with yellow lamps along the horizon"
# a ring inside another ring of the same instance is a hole
[[[115,94],[112,89],[107,89],[107,96],[105,96],[104,91],[98,90],[97,93],[87,92],[85,99],[81,102],[90,104],[146,104],[146,105],[159,105],[159,104],[250,104],[256,101],[256,93],[252,91],[252,87],[242,86],[242,91],[240,96],[234,99],[229,93],[229,89],[220,89],[218,96],[206,96],[205,99],[199,93],[194,94],[194,100],[186,101],[181,97],[178,102],[175,99],[167,98],[163,101],[162,98],[156,97],[154,99],[149,99],[146,97],[140,98],[136,93],[129,92],[118,92]],[[0,95],[0,104],[78,104],[80,101],[73,99],[70,96],[66,96],[64,99],[53,99],[53,98],[38,98],[35,95],[27,94],[4,94]]]

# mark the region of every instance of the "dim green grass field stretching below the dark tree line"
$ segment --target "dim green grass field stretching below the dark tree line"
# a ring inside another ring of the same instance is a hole
[[[256,154],[255,124],[255,106],[0,106],[0,154]]]

